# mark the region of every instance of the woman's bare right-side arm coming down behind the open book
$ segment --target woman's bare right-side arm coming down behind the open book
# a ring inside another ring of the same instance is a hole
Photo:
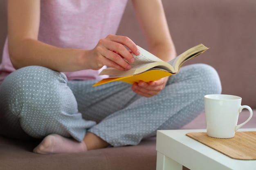
[[[132,3],[150,53],[166,62],[175,58],[175,46],[168,29],[161,0],[150,0],[150,2],[148,0],[132,0]]]

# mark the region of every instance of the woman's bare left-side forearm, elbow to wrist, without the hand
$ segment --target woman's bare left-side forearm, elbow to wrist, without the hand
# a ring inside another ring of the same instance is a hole
[[[60,72],[89,69],[83,63],[87,51],[61,49],[33,39],[9,41],[9,55],[14,68],[37,65]]]

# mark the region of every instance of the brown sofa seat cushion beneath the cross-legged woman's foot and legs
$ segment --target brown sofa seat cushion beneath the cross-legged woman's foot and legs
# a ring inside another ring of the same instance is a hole
[[[17,141],[0,136],[0,169],[3,170],[155,170],[156,137],[137,146],[104,148],[81,153],[33,153],[40,141]]]

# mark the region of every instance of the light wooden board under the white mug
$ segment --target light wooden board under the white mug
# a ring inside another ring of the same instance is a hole
[[[206,132],[191,132],[187,136],[233,159],[256,160],[256,132],[236,132],[235,137],[220,139]]]

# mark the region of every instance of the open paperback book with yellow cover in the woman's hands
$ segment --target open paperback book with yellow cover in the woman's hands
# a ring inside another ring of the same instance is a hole
[[[142,49],[140,46],[138,46],[138,48],[140,50],[140,54],[132,54],[135,61],[131,64],[130,70],[121,71],[116,68],[106,68],[102,70],[99,75],[110,75],[110,77],[102,79],[93,86],[114,81],[122,81],[130,84],[139,82],[140,80],[144,82],[155,81],[179,72],[180,67],[184,62],[209,49],[203,44],[199,44],[175,57],[170,62],[164,62],[155,55]]]

